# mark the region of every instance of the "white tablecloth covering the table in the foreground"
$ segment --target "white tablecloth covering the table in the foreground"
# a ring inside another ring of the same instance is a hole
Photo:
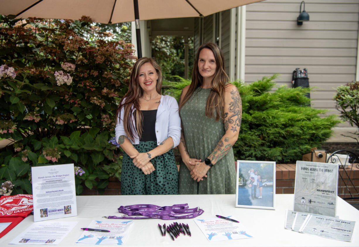
[[[236,208],[236,195],[166,195],[166,196],[77,196],[78,216],[55,219],[53,221],[78,221],[79,223],[58,246],[88,246],[75,244],[83,230],[92,220],[105,220],[102,216],[120,214],[119,206],[132,204],[156,204],[169,206],[188,203],[204,213],[195,219],[215,217],[216,214],[239,220],[253,234],[254,238],[209,242],[194,222],[194,219],[181,219],[177,222],[188,223],[192,237],[181,235],[175,241],[166,234],[162,237],[158,223],[166,225],[173,220],[141,219],[135,220],[125,246],[359,246],[359,210],[338,198],[337,215],[340,219],[356,221],[351,242],[337,241],[284,228],[285,210],[293,210],[293,194],[276,195],[275,210]],[[8,234],[0,238],[0,246],[8,243],[33,223],[33,216],[25,218]],[[12,245],[13,246],[13,245]],[[29,245],[38,246],[38,245]]]

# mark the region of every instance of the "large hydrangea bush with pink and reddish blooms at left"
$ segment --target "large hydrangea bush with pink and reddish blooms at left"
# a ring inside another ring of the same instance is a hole
[[[119,177],[121,153],[108,141],[133,54],[87,17],[0,16],[0,138],[12,140],[0,149],[0,183],[31,194],[32,166],[66,163],[78,194]]]

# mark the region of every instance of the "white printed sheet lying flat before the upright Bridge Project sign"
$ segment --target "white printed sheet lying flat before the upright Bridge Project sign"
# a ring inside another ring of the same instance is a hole
[[[78,222],[34,222],[9,244],[59,244]]]

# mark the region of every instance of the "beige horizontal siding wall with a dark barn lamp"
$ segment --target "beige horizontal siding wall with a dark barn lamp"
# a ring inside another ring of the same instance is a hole
[[[306,0],[310,21],[297,25],[300,1],[266,0],[247,5],[245,81],[281,73],[291,87],[292,71],[307,68],[312,106],[337,113],[339,85],[355,80],[359,0]],[[302,5],[303,10],[303,5]]]

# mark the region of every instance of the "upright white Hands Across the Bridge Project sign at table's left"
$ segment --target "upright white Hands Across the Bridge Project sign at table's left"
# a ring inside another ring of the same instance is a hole
[[[74,164],[31,168],[34,222],[77,215]]]

